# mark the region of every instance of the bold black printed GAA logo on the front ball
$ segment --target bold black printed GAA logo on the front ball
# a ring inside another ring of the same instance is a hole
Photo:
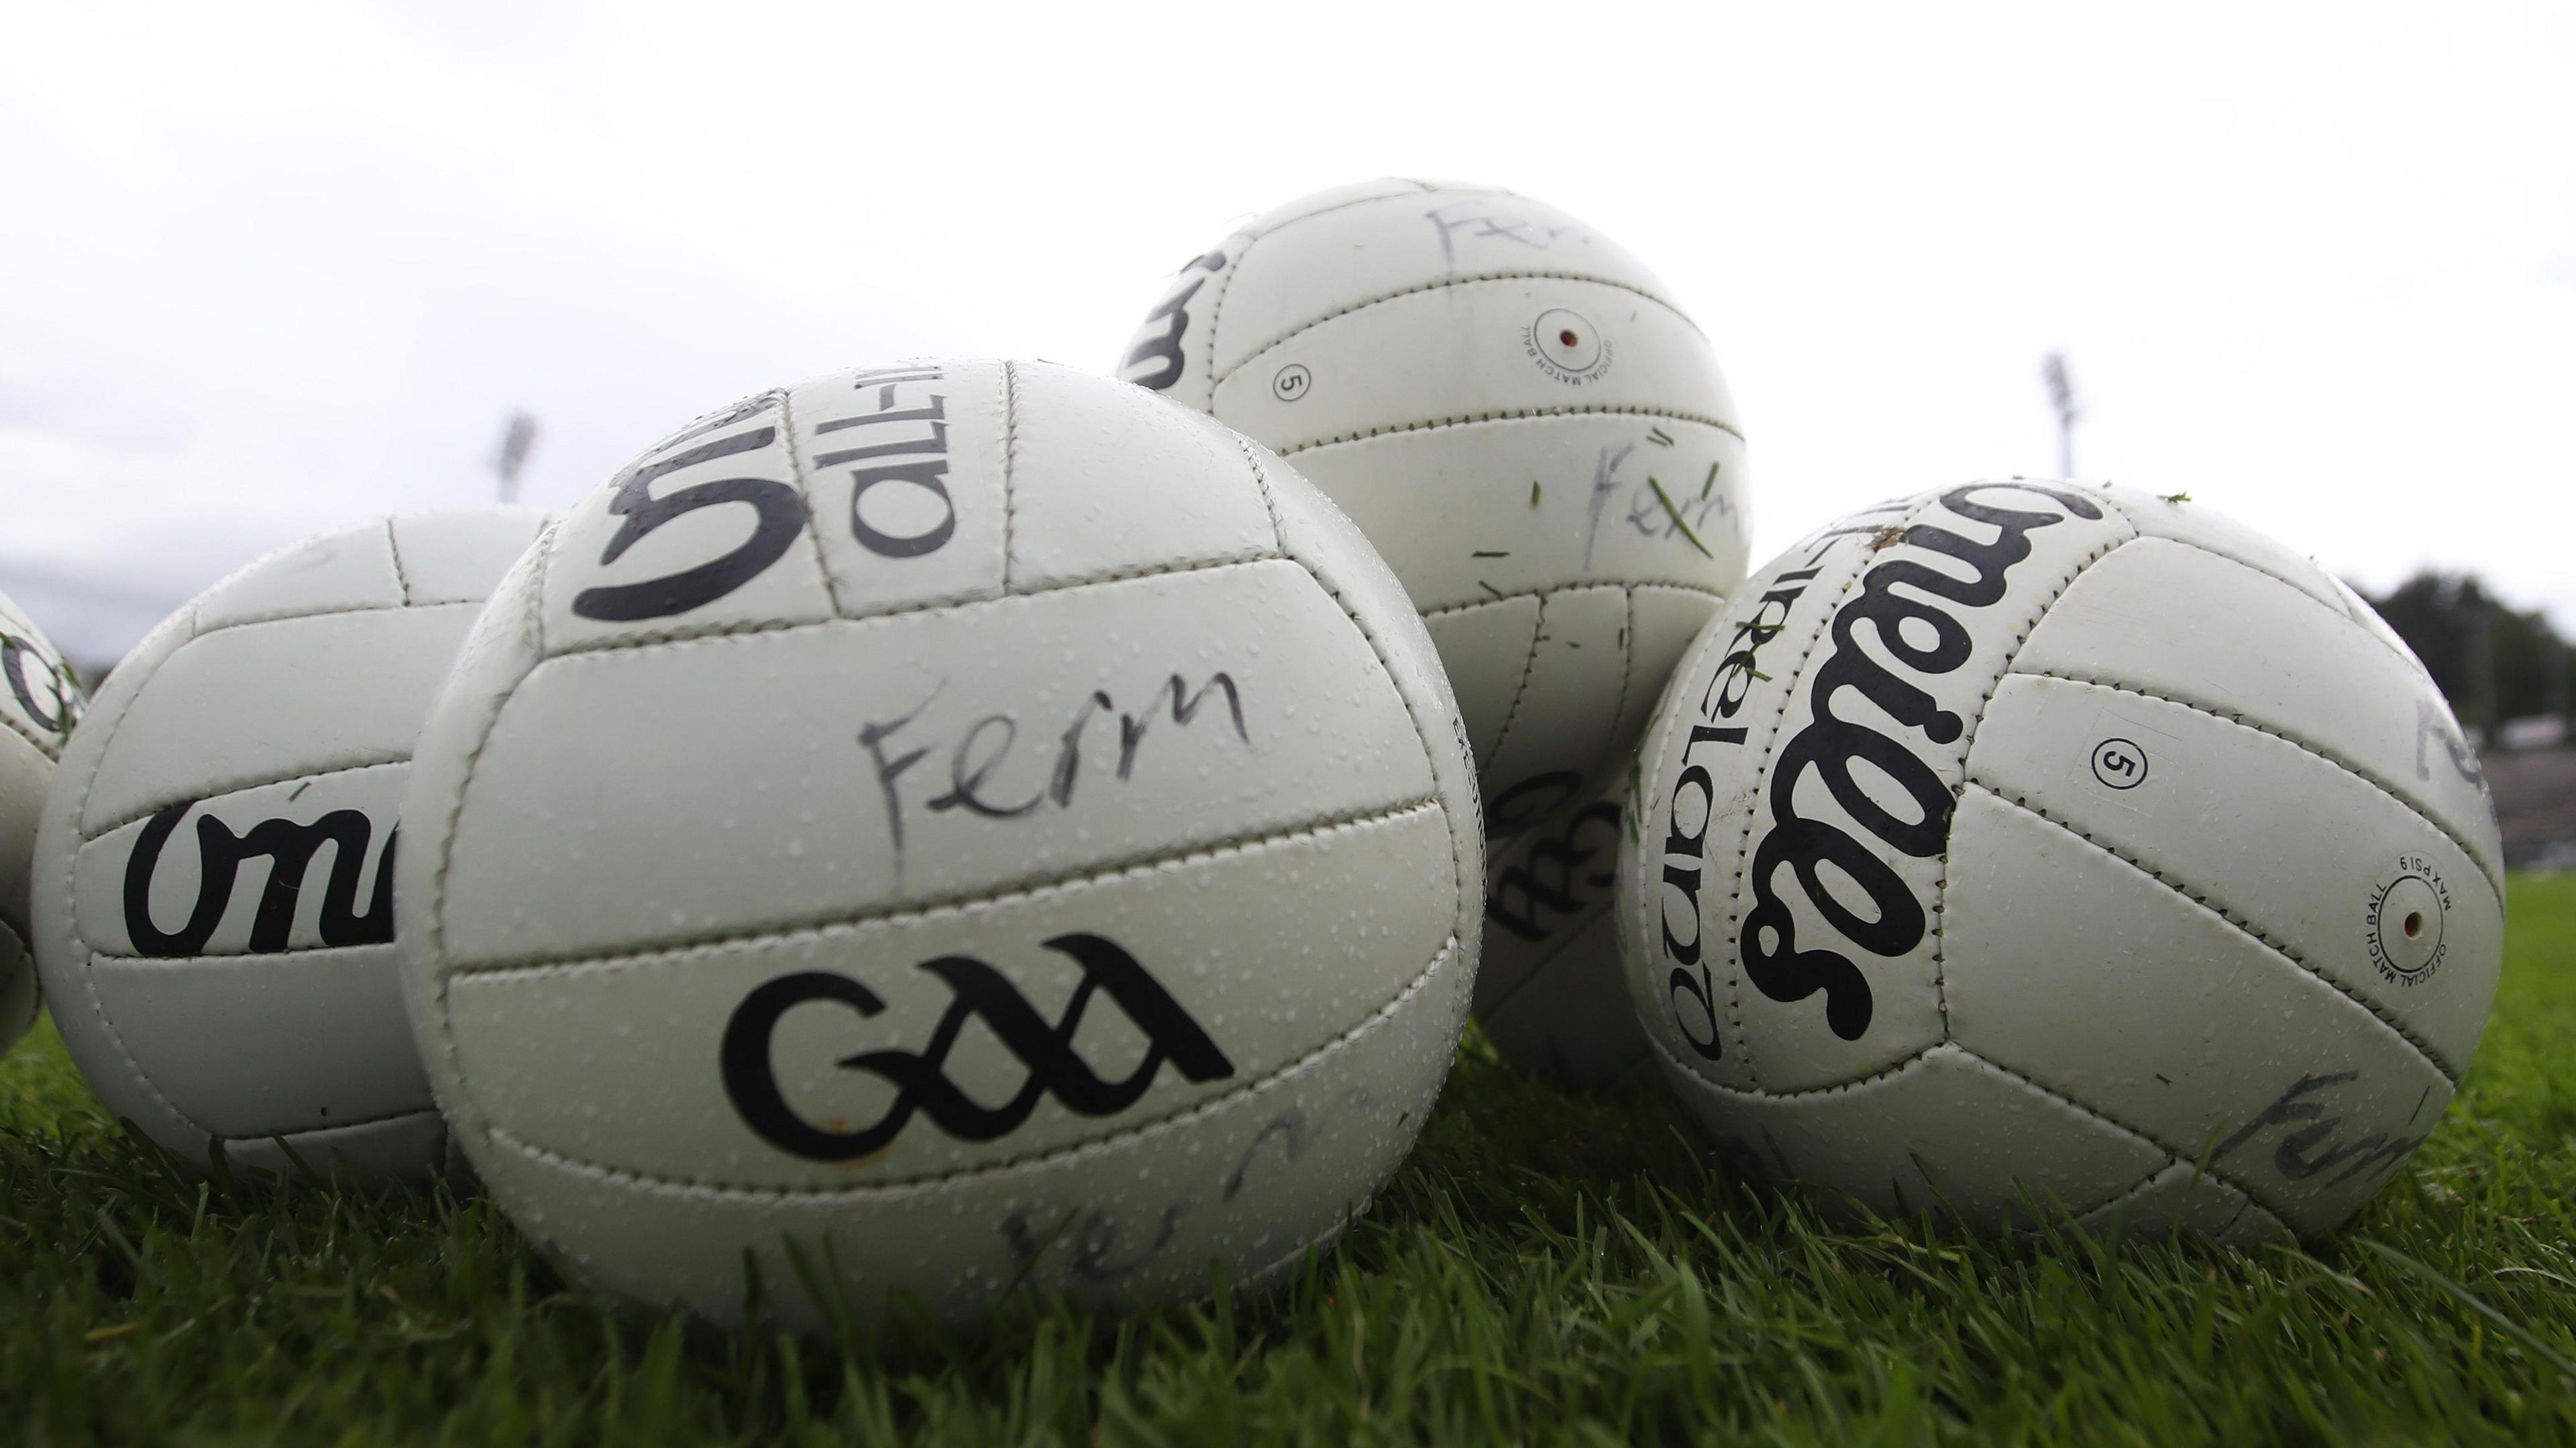
[[[951,992],[948,1010],[930,1028],[930,1041],[920,1051],[860,1051],[835,1062],[845,1072],[868,1072],[894,1087],[894,1100],[868,1126],[819,1126],[799,1116],[778,1087],[770,1059],[778,1023],[799,1005],[835,1002],[863,1018],[886,1010],[873,989],[832,971],[796,971],[742,997],[719,1046],[724,1092],[742,1123],[762,1141],[814,1162],[850,1162],[884,1152],[914,1116],[927,1116],[933,1126],[961,1141],[997,1141],[1018,1131],[1048,1095],[1079,1116],[1115,1116],[1144,1098],[1164,1062],[1182,1080],[1198,1085],[1234,1074],[1234,1062],[1198,1020],[1115,940],[1072,933],[1046,940],[1046,948],[1082,969],[1082,982],[1064,1002],[1059,1020],[1038,1015],[1038,1007],[1020,995],[1010,976],[974,956],[922,961],[920,969],[938,976]],[[1108,995],[1146,1038],[1144,1059],[1118,1080],[1103,1080],[1074,1051],[1074,1033],[1082,1031],[1082,1015],[1095,995]],[[1028,1080],[1002,1105],[984,1105],[948,1080],[948,1051],[971,1023],[992,1031],[1028,1067]]]

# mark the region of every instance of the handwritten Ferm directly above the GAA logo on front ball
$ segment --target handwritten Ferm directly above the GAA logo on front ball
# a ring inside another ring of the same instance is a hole
[[[1208,696],[1216,693],[1224,696],[1226,701],[1226,719],[1234,724],[1234,737],[1244,745],[1252,742],[1252,734],[1244,729],[1244,698],[1234,685],[1234,675],[1224,670],[1211,672],[1206,683],[1198,685],[1198,691],[1190,691],[1190,683],[1175,672],[1167,683],[1167,691],[1170,691],[1167,701],[1172,724],[1188,727],[1193,719],[1198,719],[1198,711],[1208,701]],[[938,691],[933,691],[930,698],[938,698]],[[889,742],[894,742],[894,737],[902,729],[907,729],[914,719],[920,719],[925,709],[930,709],[930,698],[925,698],[920,706],[912,709],[912,714],[904,714],[902,719],[876,721],[858,732],[860,747],[868,750],[868,757],[876,763],[876,783],[886,796],[886,832],[894,840],[896,861],[902,861],[904,853],[904,794],[902,788],[896,788],[896,781],[904,776],[904,770],[922,763],[935,745],[920,745],[904,752],[889,752]],[[956,742],[948,747],[948,791],[933,796],[927,801],[927,809],[933,814],[963,809],[981,819],[1018,819],[1048,804],[1056,809],[1069,809],[1074,804],[1074,788],[1082,781],[1082,739],[1092,729],[1092,719],[1103,719],[1108,714],[1118,716],[1118,778],[1121,781],[1133,778],[1136,755],[1144,747],[1144,739],[1151,732],[1154,721],[1162,716],[1162,711],[1149,703],[1144,714],[1126,714],[1118,709],[1118,701],[1110,698],[1108,691],[1095,688],[1082,701],[1082,709],[1074,711],[1074,719],[1064,727],[1064,732],[1056,734],[1054,763],[1046,773],[1046,783],[1038,786],[1036,794],[1030,794],[1028,799],[994,796],[997,791],[994,773],[1002,770],[1002,765],[1018,747],[1020,721],[1012,714],[984,714],[981,719],[969,724],[966,732],[958,734]]]

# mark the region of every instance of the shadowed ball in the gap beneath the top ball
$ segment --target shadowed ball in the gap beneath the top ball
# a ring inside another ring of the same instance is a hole
[[[1476,1023],[1504,1062],[1574,1087],[1607,1085],[1646,1062],[1610,920],[1625,796],[1628,783],[1615,781],[1582,809],[1494,845],[1484,881]]]

